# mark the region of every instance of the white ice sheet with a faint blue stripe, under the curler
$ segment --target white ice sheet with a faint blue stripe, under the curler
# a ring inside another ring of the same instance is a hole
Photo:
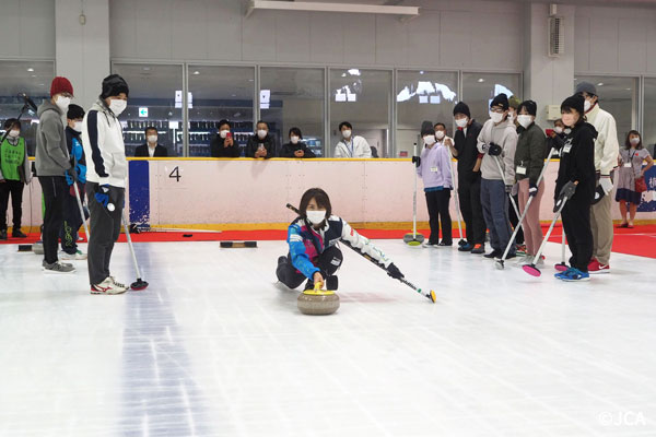
[[[562,283],[554,244],[539,279],[376,244],[437,303],[348,248],[313,317],[276,284],[283,241],[137,244],[150,287],[121,296],[0,246],[0,435],[656,435],[653,259]],[[113,273],[136,279],[125,244]]]

